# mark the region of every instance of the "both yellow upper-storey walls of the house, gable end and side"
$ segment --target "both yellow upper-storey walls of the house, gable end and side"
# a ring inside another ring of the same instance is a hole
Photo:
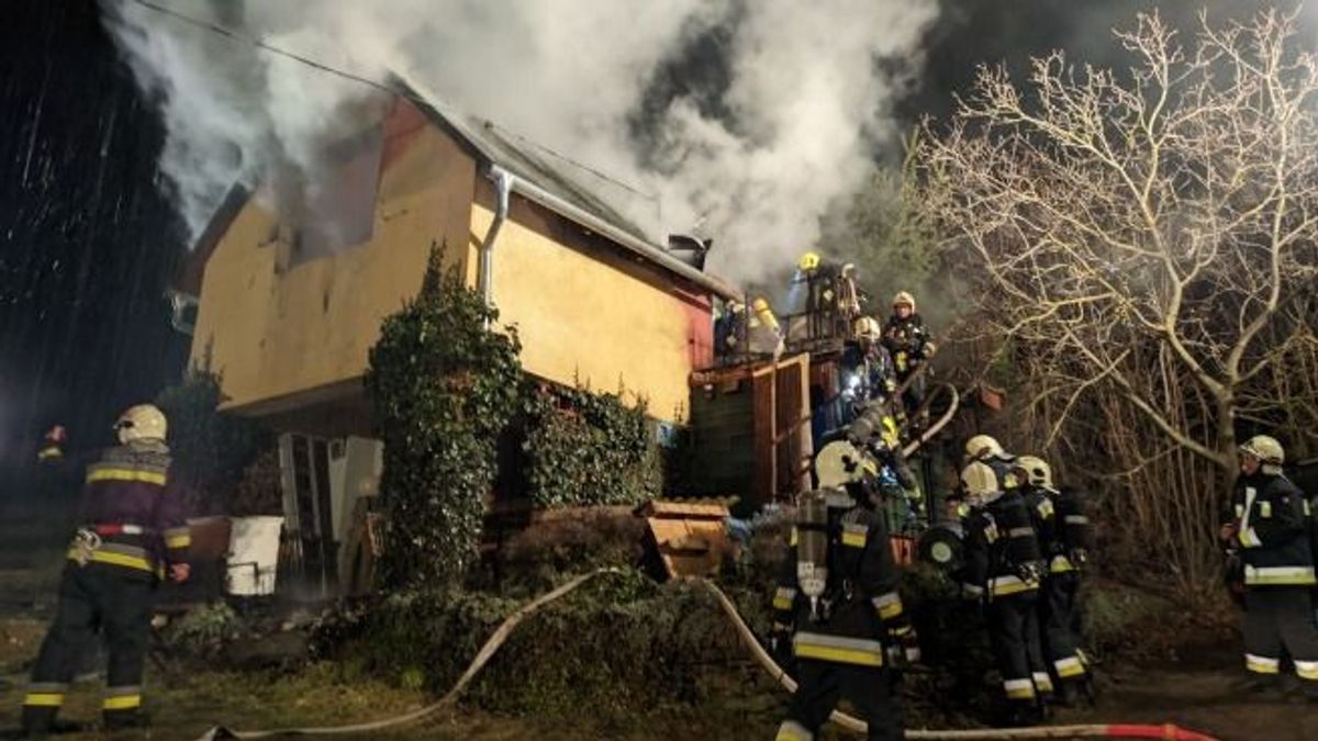
[[[261,200],[243,207],[206,264],[192,361],[221,374],[225,407],[262,417],[360,396],[353,382],[380,323],[420,287],[431,243],[447,240],[447,260],[474,286],[493,220],[486,178],[430,125],[385,166],[365,245],[281,269],[287,248]],[[692,327],[708,324],[708,307],[672,276],[514,195],[494,252],[494,302],[500,322],[518,327],[529,372],[608,392],[621,382],[652,417],[685,421]]]

